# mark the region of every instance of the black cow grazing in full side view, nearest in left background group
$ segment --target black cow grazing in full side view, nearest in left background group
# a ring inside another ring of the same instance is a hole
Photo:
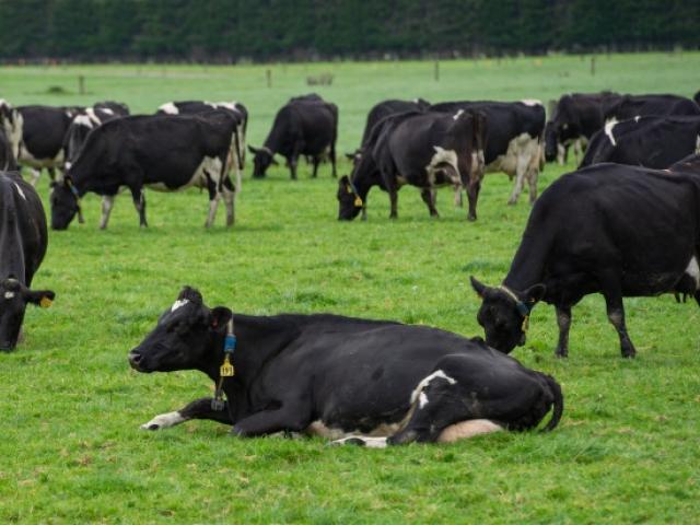
[[[66,230],[88,191],[104,197],[102,222],[107,226],[120,187],[131,191],[141,226],[147,226],[149,186],[177,191],[192,185],[209,189],[207,226],[214,221],[219,199],[226,206],[226,225],[234,221],[234,186],[228,160],[236,120],[229,112],[209,115],[141,115],[103,124],[89,136],[65,180],[51,192],[51,228]]]

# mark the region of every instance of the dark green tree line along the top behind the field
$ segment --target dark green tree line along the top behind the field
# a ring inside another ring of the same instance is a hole
[[[0,58],[238,61],[700,47],[687,0],[0,0]]]

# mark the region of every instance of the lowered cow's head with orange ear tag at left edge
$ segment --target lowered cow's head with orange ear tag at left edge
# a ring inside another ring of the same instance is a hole
[[[14,278],[0,281],[0,350],[16,346],[27,304],[48,307],[55,296],[50,290],[30,290]]]

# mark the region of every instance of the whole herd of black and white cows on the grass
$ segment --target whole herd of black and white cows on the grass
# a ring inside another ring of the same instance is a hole
[[[525,342],[533,307],[553,304],[556,353],[569,351],[571,310],[602,293],[623,357],[635,354],[625,324],[623,296],[675,293],[700,304],[700,93],[675,95],[567,94],[549,121],[538,101],[385,101],[372,108],[352,173],[338,180],[339,219],[366,218],[378,186],[397,217],[397,192],[416,186],[431,215],[435,190],[477,199],[488,172],[515,178],[509,203],[528,184],[534,203],[502,284],[471,278],[486,332],[467,339],[436,328],[336,315],[233,314],[209,307],[186,287],[155,328],[128,355],[139,372],[199,370],[213,397],[159,415],[158,430],[190,419],[233,425],[236,435],[278,432],[323,435],[335,443],[384,447],[453,442],[502,429],[537,427],[563,397],[549,375],[509,357]],[[248,112],[238,103],[174,102],[155,115],[129,116],[126,105],[13,107],[0,101],[0,349],[18,342],[26,305],[49,306],[50,290],[32,290],[47,248],[42,201],[20,165],[48,168],[51,228],[82,221],[81,198],[103,197],[101,228],[127,187],[147,225],[144,187],[207,188],[207,226],[220,200],[226,224],[245,166]],[[336,177],[338,107],[315,94],[294,97],[277,114],[254,156],[262,177],[275,156],[296,178],[299,160],[329,161]],[[578,171],[537,199],[545,162],[583,154]],[[584,153],[585,152],[585,153]],[[58,170],[58,174],[56,173]],[[235,182],[234,182],[235,180]],[[234,368],[235,365],[235,368]]]

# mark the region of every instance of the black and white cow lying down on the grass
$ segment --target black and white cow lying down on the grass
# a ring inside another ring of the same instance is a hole
[[[147,430],[209,419],[240,436],[301,432],[383,447],[534,429],[553,408],[552,430],[563,410],[552,377],[478,338],[325,314],[233,314],[188,287],[128,359],[139,372],[198,370],[218,385],[213,399],[156,416]],[[233,375],[222,376],[222,363]]]

